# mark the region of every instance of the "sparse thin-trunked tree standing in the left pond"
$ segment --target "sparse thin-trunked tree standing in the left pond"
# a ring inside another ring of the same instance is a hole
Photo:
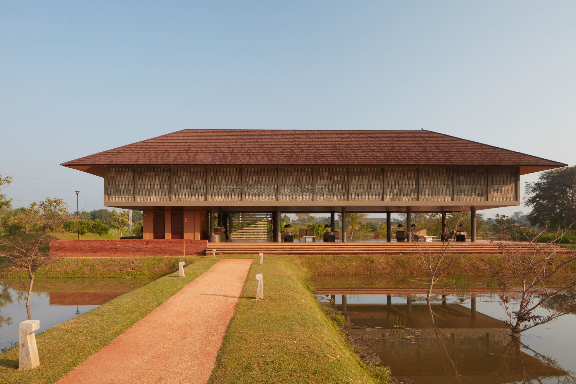
[[[28,271],[30,283],[28,285],[28,298],[26,309],[30,318],[30,298],[34,275],[44,265],[58,261],[50,254],[48,242],[50,234],[61,230],[62,225],[73,216],[67,212],[66,203],[58,198],[46,198],[37,203],[33,202],[24,212],[18,216],[18,220],[33,231],[32,239],[22,239],[21,236],[9,236],[0,239],[0,255],[8,261],[8,266],[24,268]]]

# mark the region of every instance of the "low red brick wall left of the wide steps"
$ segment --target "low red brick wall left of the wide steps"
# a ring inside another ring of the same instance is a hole
[[[54,240],[56,257],[150,257],[206,254],[208,240]]]

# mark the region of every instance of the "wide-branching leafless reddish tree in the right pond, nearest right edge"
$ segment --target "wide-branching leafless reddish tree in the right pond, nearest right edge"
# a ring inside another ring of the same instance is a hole
[[[548,227],[528,237],[528,242],[493,242],[506,261],[505,272],[495,270],[494,276],[502,290],[499,298],[506,311],[507,319],[503,321],[510,327],[510,336],[517,337],[527,329],[576,310],[576,302],[570,299],[558,300],[547,309],[543,305],[576,287],[576,276],[563,274],[567,266],[576,262],[576,255],[557,245],[570,227],[558,229],[547,243],[537,240]],[[539,314],[539,310],[547,313]]]

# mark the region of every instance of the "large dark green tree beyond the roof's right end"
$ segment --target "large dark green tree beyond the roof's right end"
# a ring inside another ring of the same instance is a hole
[[[543,172],[538,181],[526,184],[526,218],[544,228],[569,226],[576,221],[576,165]]]

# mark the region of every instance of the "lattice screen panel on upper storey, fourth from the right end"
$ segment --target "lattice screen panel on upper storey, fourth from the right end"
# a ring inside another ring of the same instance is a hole
[[[385,201],[417,201],[418,170],[416,168],[384,168]]]

